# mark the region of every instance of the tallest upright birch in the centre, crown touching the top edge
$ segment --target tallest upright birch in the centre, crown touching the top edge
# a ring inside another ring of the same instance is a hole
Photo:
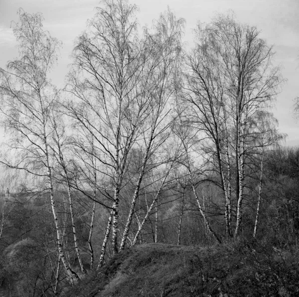
[[[113,201],[116,254],[120,190],[128,154],[149,112],[140,80],[148,49],[139,42],[135,5],[126,0],[102,4],[88,30],[77,38],[67,88],[75,99],[65,108],[77,127],[78,143],[84,143],[83,135],[94,139],[96,150],[86,152],[94,154],[98,170],[112,184],[106,194]]]

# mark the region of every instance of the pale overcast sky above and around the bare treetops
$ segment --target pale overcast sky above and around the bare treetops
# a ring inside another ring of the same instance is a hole
[[[282,66],[287,82],[278,96],[273,111],[279,120],[280,132],[289,135],[286,145],[299,146],[299,122],[293,117],[293,100],[299,96],[299,0],[136,0],[141,25],[151,24],[159,13],[172,9],[177,17],[186,20],[185,41],[192,43],[192,29],[197,21],[209,22],[217,12],[233,10],[240,22],[257,26],[261,37],[276,52],[275,64]],[[0,67],[17,56],[15,40],[10,28],[17,21],[16,11],[22,7],[29,13],[42,12],[44,28],[63,42],[59,65],[53,82],[62,87],[70,63],[73,42],[92,18],[98,0],[0,0]]]

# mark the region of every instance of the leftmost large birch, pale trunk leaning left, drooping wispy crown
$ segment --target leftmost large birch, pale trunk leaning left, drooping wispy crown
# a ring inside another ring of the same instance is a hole
[[[2,123],[11,135],[6,145],[9,154],[1,162],[46,180],[45,191],[50,195],[59,255],[73,282],[78,277],[70,268],[63,249],[49,147],[52,134],[49,118],[58,100],[58,91],[48,75],[57,61],[60,42],[43,30],[40,13],[29,14],[20,9],[18,15],[13,33],[18,41],[19,58],[8,62],[6,70],[0,69],[0,111]]]

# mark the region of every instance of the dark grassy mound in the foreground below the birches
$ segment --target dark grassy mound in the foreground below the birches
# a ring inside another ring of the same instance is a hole
[[[65,296],[299,296],[297,259],[244,242],[210,248],[147,244],[119,254]]]

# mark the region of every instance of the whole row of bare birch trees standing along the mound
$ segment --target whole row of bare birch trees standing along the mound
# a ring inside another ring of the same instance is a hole
[[[182,199],[177,244],[188,189],[219,243],[240,234],[244,199],[255,199],[256,236],[264,155],[280,139],[271,106],[282,78],[255,27],[217,16],[197,25],[189,50],[184,20],[172,11],[143,30],[136,13],[126,0],[103,1],[75,40],[66,86],[57,90],[49,73],[61,43],[43,29],[40,13],[19,10],[13,24],[19,57],[0,68],[1,119],[10,135],[0,160],[24,170],[36,191],[49,195],[58,265],[71,283],[79,277],[65,254],[57,191],[67,197],[82,274],[73,210],[78,195],[88,204],[90,268],[95,261],[103,265],[110,238],[113,254],[141,240],[165,193]],[[247,180],[254,176],[259,190],[249,197]],[[223,211],[217,228],[198,193],[204,182],[215,187]],[[141,203],[144,217],[137,216]],[[107,213],[103,243],[92,241],[99,207]]]

